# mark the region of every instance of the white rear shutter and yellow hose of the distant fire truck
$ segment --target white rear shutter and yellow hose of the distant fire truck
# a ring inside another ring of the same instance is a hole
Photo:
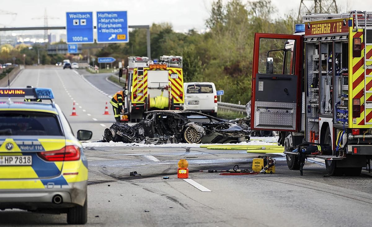
[[[168,100],[168,105],[166,106],[166,109],[169,106],[169,91],[168,91],[168,70],[148,70],[147,71],[147,92],[148,92],[148,100],[154,99],[157,96],[163,96],[164,100]],[[162,94],[163,93],[163,94]],[[159,106],[153,104],[154,102],[151,102],[150,100],[150,109],[156,108],[156,109],[164,109],[164,108],[158,108]],[[151,106],[153,104],[153,106]]]

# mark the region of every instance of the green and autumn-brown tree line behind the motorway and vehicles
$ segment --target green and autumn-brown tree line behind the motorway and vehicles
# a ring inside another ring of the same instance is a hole
[[[209,18],[205,21],[207,32],[198,33],[191,29],[187,33],[175,32],[170,23],[153,24],[151,33],[151,57],[161,55],[183,56],[185,82],[214,82],[218,90],[225,90],[223,102],[247,103],[251,98],[251,74],[254,33],[294,32],[295,13],[273,18],[277,9],[270,0],[248,1],[222,0],[212,3]],[[128,56],[147,56],[146,31],[134,29],[129,33],[126,44],[107,44],[90,55],[94,57],[114,57],[118,61]],[[90,44],[92,45],[92,44]],[[43,47],[18,45],[1,46],[0,60],[5,63],[37,63],[37,50]],[[87,53],[83,51],[82,55]],[[55,64],[73,55],[48,55],[39,51],[42,64]],[[10,57],[11,56],[11,57]],[[116,65],[118,63],[116,61]],[[127,64],[127,62],[126,62]]]

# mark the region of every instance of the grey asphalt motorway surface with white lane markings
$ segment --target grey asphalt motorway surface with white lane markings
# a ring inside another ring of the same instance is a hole
[[[102,115],[107,96],[73,70],[25,70],[13,85],[26,84],[51,87],[66,115],[72,109],[71,95],[82,106],[78,117],[68,116],[75,131],[99,134],[104,129],[100,124],[113,120]],[[220,176],[198,170],[235,164],[250,169],[258,154],[186,146],[86,147],[87,226],[371,226],[372,178],[365,171],[359,177],[329,177],[322,162],[309,159],[300,176],[288,169],[281,154],[270,154],[277,163],[272,175]],[[177,178],[182,158],[189,161],[189,179],[202,191]],[[142,176],[130,177],[132,171]],[[0,211],[1,226],[65,226],[65,218]]]

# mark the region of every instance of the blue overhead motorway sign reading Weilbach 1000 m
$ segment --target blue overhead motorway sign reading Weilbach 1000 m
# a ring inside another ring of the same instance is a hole
[[[66,13],[67,43],[94,43],[93,12]]]

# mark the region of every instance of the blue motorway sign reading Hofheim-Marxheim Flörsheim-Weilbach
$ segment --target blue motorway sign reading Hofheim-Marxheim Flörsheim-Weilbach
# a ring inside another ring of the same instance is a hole
[[[126,11],[97,12],[97,42],[128,42]]]

